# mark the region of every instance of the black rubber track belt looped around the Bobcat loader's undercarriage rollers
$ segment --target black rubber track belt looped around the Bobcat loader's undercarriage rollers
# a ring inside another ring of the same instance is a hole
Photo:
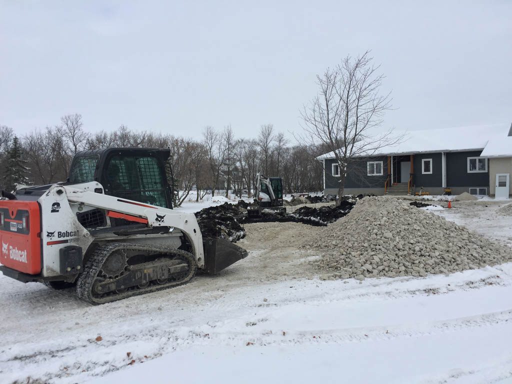
[[[167,284],[158,284],[151,285],[146,288],[135,288],[132,290],[128,290],[124,293],[115,293],[112,295],[104,296],[104,297],[95,297],[92,294],[93,284],[96,280],[96,277],[101,269],[101,266],[105,262],[105,260],[109,257],[109,255],[120,248],[124,249],[137,249],[141,251],[155,251],[156,253],[169,254],[173,256],[183,257],[188,260],[189,265],[192,266],[190,271],[185,276],[183,280],[177,282],[169,282]],[[121,300],[122,298],[137,296],[143,293],[156,292],[162,289],[177,287],[179,285],[183,285],[192,280],[197,271],[197,262],[194,258],[193,254],[180,250],[180,249],[169,249],[165,247],[151,246],[151,245],[141,245],[141,244],[126,244],[126,243],[110,243],[106,245],[102,245],[96,248],[94,253],[91,255],[86,265],[83,268],[83,272],[78,278],[78,282],[76,284],[76,293],[78,297],[91,304],[103,304],[110,303],[116,300]]]

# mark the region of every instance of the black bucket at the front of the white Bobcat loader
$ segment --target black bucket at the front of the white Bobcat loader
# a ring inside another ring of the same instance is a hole
[[[245,259],[248,252],[238,245],[224,239],[205,238],[204,269],[206,273],[214,274],[229,267],[239,260]]]

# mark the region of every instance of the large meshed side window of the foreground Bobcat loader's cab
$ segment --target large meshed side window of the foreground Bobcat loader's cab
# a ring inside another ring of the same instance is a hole
[[[167,206],[161,168],[153,157],[114,156],[106,177],[113,196]]]

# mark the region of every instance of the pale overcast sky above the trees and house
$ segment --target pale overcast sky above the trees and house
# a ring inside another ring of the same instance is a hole
[[[2,0],[0,124],[25,134],[80,113],[89,131],[286,133],[315,75],[366,50],[392,91],[385,128],[512,121],[508,0]]]

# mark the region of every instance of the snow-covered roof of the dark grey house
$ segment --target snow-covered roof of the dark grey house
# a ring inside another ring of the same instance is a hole
[[[393,132],[393,137],[403,135],[400,143],[372,151],[371,156],[399,155],[431,152],[457,152],[483,150],[489,140],[501,141],[507,137],[508,124],[466,126],[449,129]],[[511,145],[509,147],[512,148]],[[512,152],[512,150],[509,150]],[[367,155],[367,156],[369,156]],[[484,156],[482,154],[482,156]],[[332,152],[318,156],[317,160],[332,159]]]

